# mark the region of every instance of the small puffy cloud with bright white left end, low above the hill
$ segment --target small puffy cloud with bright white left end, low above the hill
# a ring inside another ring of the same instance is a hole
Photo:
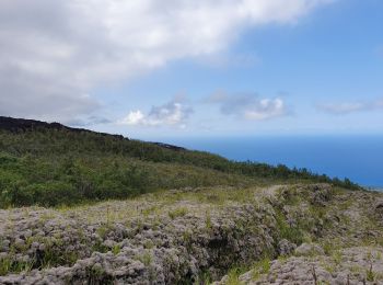
[[[193,109],[181,101],[174,100],[161,106],[152,106],[146,115],[142,111],[130,111],[128,115],[117,123],[130,126],[174,126],[186,127],[186,121]]]

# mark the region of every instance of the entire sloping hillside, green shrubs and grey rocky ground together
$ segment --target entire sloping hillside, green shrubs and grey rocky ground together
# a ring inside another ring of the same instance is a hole
[[[383,194],[0,117],[0,284],[382,284]]]

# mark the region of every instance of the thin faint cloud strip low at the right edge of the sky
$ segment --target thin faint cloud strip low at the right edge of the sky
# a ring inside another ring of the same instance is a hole
[[[344,115],[356,112],[368,112],[383,109],[383,99],[374,101],[355,101],[317,104],[316,107],[325,113],[333,115]]]

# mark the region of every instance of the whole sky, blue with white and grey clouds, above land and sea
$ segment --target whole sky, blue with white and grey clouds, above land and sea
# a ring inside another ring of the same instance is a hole
[[[0,115],[154,139],[383,134],[381,0],[1,0]]]

